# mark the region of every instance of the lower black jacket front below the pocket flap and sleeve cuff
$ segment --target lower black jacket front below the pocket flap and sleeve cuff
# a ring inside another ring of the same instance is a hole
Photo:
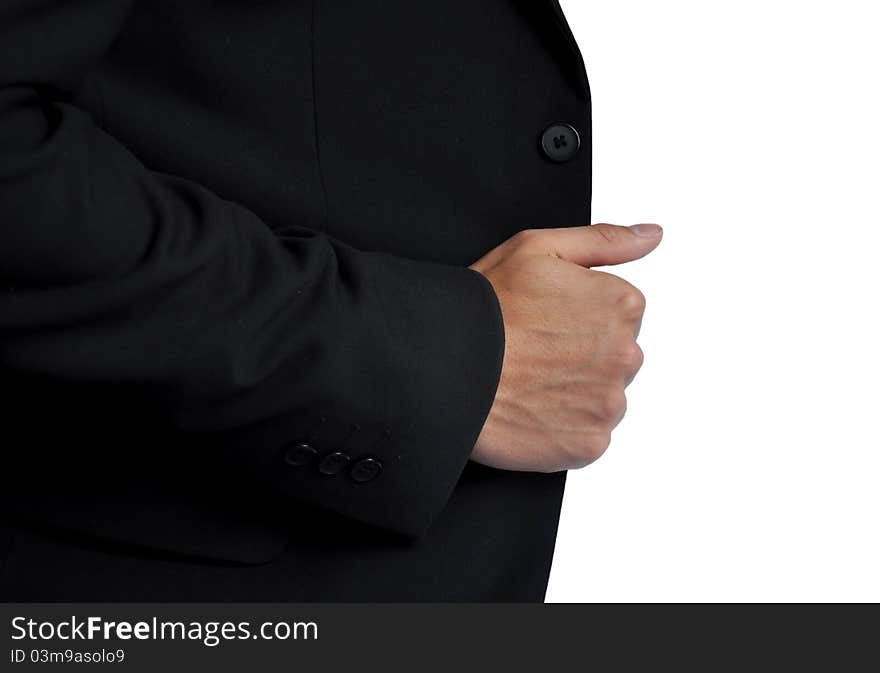
[[[552,488],[473,465],[420,541],[306,508],[291,517],[295,543],[262,565],[17,528],[0,595],[23,602],[541,601],[565,475],[549,479]],[[516,516],[513,487],[522,499]]]

